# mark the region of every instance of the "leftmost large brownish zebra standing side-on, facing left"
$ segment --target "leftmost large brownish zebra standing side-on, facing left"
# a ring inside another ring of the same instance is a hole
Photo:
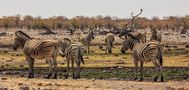
[[[13,49],[22,48],[29,66],[28,78],[34,77],[35,59],[46,59],[49,64],[49,73],[46,78],[50,78],[54,71],[53,78],[57,78],[57,52],[58,43],[48,40],[36,40],[29,37],[22,31],[16,31]]]

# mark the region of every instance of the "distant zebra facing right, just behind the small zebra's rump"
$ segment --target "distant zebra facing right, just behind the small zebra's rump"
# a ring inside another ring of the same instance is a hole
[[[94,39],[93,30],[90,30],[85,37],[80,39],[81,43],[85,46],[87,53],[89,53],[90,51],[89,47],[90,47],[92,39]]]

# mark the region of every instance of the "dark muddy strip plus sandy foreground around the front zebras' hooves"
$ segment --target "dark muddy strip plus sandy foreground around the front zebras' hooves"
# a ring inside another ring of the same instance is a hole
[[[27,68],[0,69],[0,90],[188,90],[189,68],[164,67],[165,82],[153,82],[153,68],[145,68],[144,81],[132,81],[132,67],[82,68],[81,79],[45,79],[48,68],[35,68],[35,78],[27,78]],[[28,89],[29,88],[29,89]]]

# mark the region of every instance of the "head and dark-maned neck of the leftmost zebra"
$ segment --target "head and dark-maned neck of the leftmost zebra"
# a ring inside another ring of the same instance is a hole
[[[16,31],[15,32],[15,38],[14,38],[14,44],[13,44],[13,50],[17,50],[18,48],[23,48],[25,45],[25,42],[29,39],[32,39],[27,34],[25,34],[22,31]]]

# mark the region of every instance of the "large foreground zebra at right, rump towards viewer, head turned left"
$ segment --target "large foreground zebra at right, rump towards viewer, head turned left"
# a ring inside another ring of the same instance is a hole
[[[143,80],[143,63],[144,62],[153,62],[156,68],[156,75],[154,77],[154,81],[157,81],[160,76],[161,81],[163,81],[162,74],[162,50],[160,47],[160,43],[157,41],[151,41],[148,43],[141,43],[138,38],[133,36],[132,34],[127,34],[124,47],[127,49],[131,49],[132,58],[135,65],[135,78],[137,79],[138,74],[138,63],[140,62],[140,81]]]

